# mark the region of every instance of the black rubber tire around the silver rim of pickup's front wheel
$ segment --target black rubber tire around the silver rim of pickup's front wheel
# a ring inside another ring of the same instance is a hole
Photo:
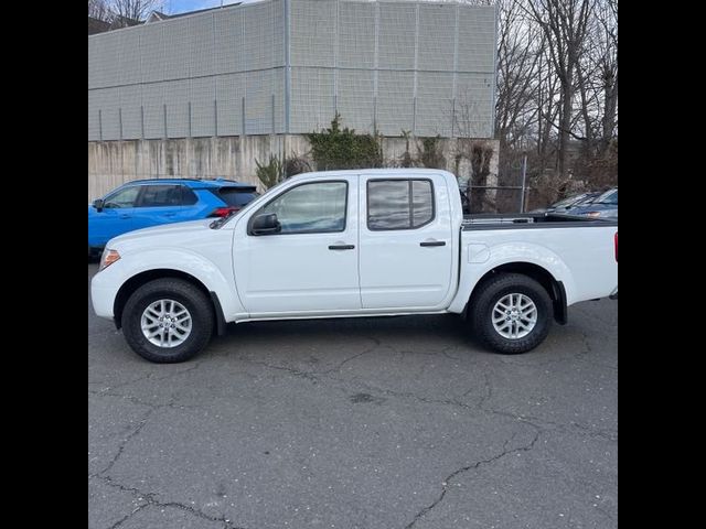
[[[191,315],[191,333],[174,347],[160,347],[142,334],[145,310],[159,300],[181,303]],[[158,364],[185,361],[199,354],[213,334],[213,305],[206,295],[188,281],[175,278],[156,279],[137,289],[122,310],[122,333],[132,349],[142,358]]]

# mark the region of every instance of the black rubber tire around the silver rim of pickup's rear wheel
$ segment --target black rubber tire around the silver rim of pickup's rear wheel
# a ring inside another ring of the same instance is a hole
[[[521,273],[498,273],[478,289],[471,300],[469,321],[474,333],[491,349],[505,355],[518,355],[534,349],[547,337],[552,325],[552,299],[537,281]],[[502,298],[515,293],[532,300],[537,320],[526,336],[507,338],[493,325],[493,309]]]

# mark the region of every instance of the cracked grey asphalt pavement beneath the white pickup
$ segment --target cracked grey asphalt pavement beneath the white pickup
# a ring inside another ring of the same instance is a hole
[[[88,526],[616,528],[617,337],[605,300],[521,356],[440,315],[243,324],[154,365],[89,300]]]

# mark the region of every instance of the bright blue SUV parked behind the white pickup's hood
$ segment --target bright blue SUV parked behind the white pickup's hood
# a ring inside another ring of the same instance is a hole
[[[160,224],[227,217],[258,193],[232,180],[136,180],[88,206],[88,255],[126,231]]]

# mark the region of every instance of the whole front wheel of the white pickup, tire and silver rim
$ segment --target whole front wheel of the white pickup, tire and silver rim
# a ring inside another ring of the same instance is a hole
[[[122,333],[130,347],[159,364],[185,361],[200,353],[211,339],[213,323],[206,295],[174,278],[143,284],[122,310]]]

